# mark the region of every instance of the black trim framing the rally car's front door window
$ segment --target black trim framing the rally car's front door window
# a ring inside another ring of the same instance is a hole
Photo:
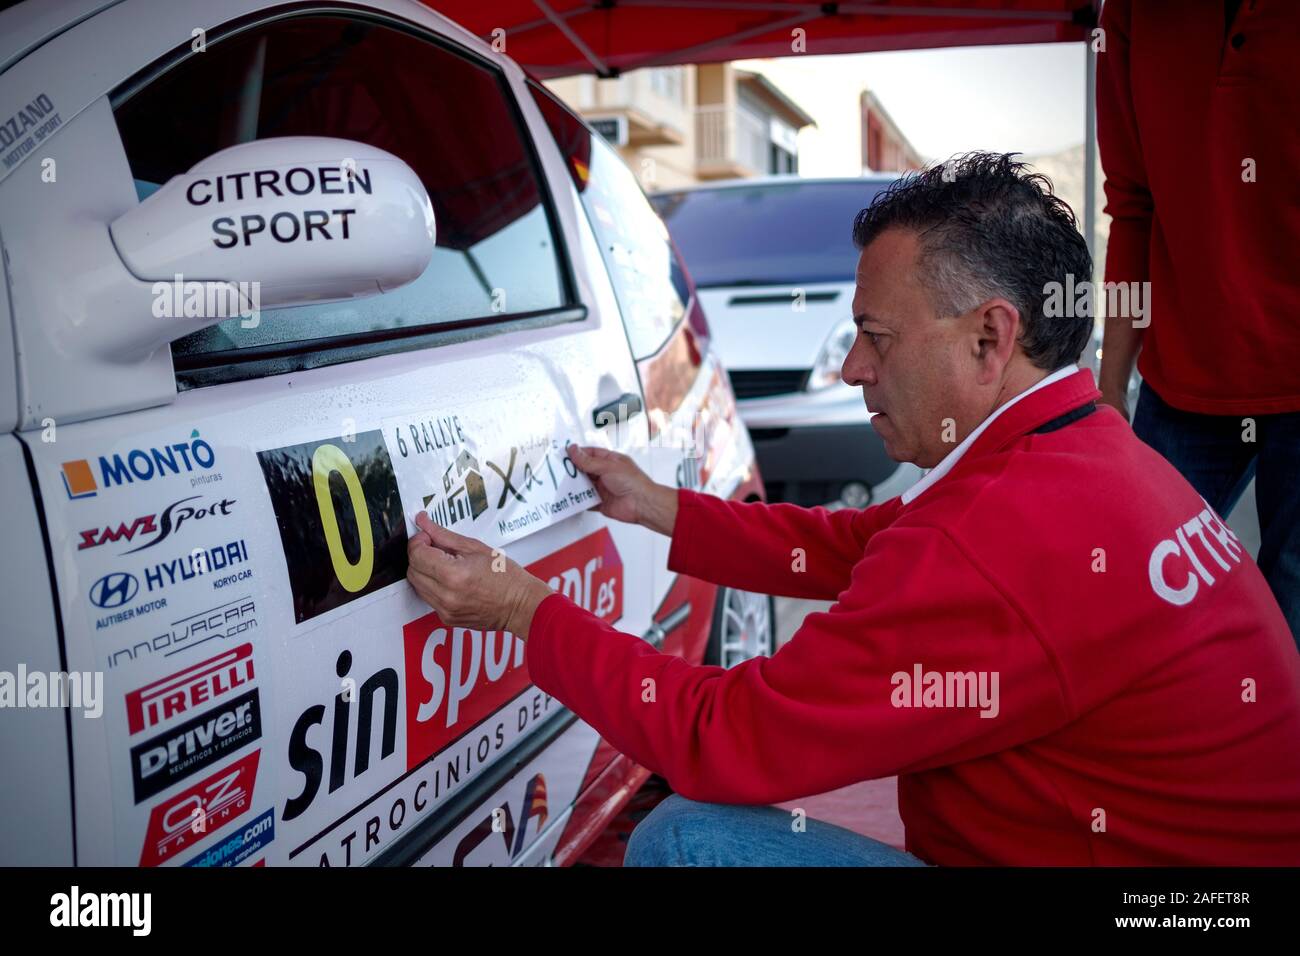
[[[484,56],[477,51],[469,49],[468,47],[463,47],[451,38],[430,31],[428,27],[413,23],[408,20],[403,20],[381,10],[355,7],[347,3],[320,3],[318,0],[289,3],[226,21],[207,33],[204,44],[211,46],[270,23],[286,20],[302,20],[313,16],[344,17],[396,30],[407,34],[408,36],[413,36],[415,39],[441,47],[448,53],[468,60],[474,65],[482,66],[495,78],[498,86],[500,87],[506,108],[514,120],[515,130],[524,146],[525,156],[532,164],[533,173],[538,181],[541,202],[546,211],[551,241],[555,245],[555,258],[560,277],[560,293],[564,302],[556,308],[534,312],[471,316],[468,319],[458,319],[446,323],[402,325],[391,329],[356,332],[311,339],[295,339],[292,342],[281,342],[251,349],[200,352],[195,355],[173,355],[172,360],[176,368],[177,390],[186,392],[207,385],[250,381],[272,375],[302,372],[309,368],[321,368],[347,362],[360,362],[377,355],[420,351],[443,345],[454,345],[456,342],[490,338],[499,334],[511,334],[526,329],[584,321],[588,317],[588,308],[578,297],[578,284],[573,273],[573,259],[569,255],[568,239],[564,235],[563,219],[560,217],[559,208],[555,203],[554,189],[546,174],[546,166],[542,163],[542,157],[537,151],[537,143],[534,142],[528,127],[528,122],[524,118],[519,98],[516,96],[515,88],[510,82],[510,78],[506,75],[506,70],[500,62]],[[112,108],[114,116],[122,104],[127,103],[147,86],[157,82],[159,78],[195,56],[200,56],[200,53],[194,52],[190,48],[190,40],[186,40],[118,83],[109,92],[109,107]],[[125,143],[122,143],[122,147],[125,153]],[[568,185],[567,181],[566,185]]]

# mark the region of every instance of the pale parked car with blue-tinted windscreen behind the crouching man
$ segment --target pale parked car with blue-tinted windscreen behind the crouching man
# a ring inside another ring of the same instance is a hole
[[[863,507],[904,492],[900,464],[840,378],[853,325],[853,219],[898,177],[770,176],[651,203],[699,289],[771,501]]]

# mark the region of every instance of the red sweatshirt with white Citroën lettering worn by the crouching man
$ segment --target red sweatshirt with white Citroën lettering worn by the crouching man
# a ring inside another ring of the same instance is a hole
[[[552,594],[533,682],[693,800],[897,774],[907,849],[933,864],[1300,864],[1291,633],[1115,411],[1071,420],[1096,397],[1087,369],[1027,395],[909,505],[680,492],[671,568],[831,610],[722,670]],[[928,693],[931,674],[996,706]]]

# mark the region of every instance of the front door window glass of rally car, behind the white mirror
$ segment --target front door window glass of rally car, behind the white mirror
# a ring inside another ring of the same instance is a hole
[[[140,199],[229,146],[321,135],[406,160],[434,209],[437,250],[410,285],[266,310],[255,328],[230,319],[176,341],[177,356],[237,358],[242,349],[506,319],[568,300],[516,107],[500,75],[468,56],[380,23],[311,16],[209,40],[156,79],[127,86],[114,112]]]

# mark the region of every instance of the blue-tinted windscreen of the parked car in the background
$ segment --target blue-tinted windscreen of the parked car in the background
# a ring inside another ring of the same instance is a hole
[[[699,287],[852,282],[853,217],[888,182],[792,182],[663,193],[663,216]]]

